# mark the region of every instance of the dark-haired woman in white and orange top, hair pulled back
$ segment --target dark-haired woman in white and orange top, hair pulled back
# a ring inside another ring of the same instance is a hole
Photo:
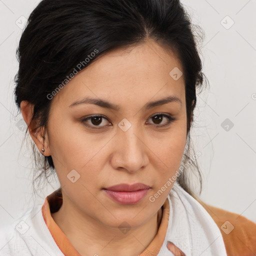
[[[178,0],[42,0],[17,53],[16,104],[60,188],[2,228],[0,255],[256,253],[255,223],[189,188],[203,73]]]

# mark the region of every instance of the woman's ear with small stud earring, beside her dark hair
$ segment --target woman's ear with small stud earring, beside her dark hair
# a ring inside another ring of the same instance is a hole
[[[50,155],[49,142],[47,132],[44,127],[38,127],[37,120],[31,120],[33,115],[34,105],[29,103],[27,100],[22,100],[20,103],[20,109],[23,119],[28,127],[29,134],[36,144],[40,153],[45,156]],[[44,149],[44,152],[42,151]]]

